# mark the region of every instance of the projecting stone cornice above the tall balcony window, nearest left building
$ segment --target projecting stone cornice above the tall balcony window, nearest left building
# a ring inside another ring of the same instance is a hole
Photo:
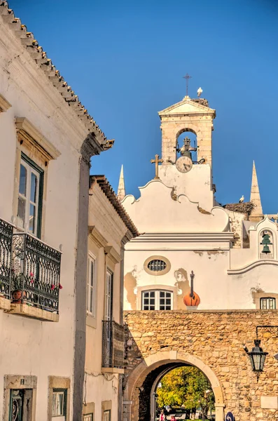
[[[61,153],[58,149],[26,117],[16,117],[15,128],[18,135],[22,138],[21,140],[27,141],[29,145],[39,149],[48,161],[57,159],[60,156]]]

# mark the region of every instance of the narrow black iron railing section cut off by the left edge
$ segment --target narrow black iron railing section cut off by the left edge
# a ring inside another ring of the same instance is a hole
[[[13,226],[0,219],[0,295],[11,298]]]

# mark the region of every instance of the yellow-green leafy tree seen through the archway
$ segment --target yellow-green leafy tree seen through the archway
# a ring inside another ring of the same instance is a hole
[[[184,406],[195,411],[201,408],[202,419],[209,408],[214,408],[214,394],[207,377],[197,367],[180,367],[171,370],[161,380],[157,389],[158,406]]]

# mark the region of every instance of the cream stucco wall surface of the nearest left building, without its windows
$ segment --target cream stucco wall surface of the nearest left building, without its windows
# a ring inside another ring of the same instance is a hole
[[[0,113],[0,218],[11,221],[18,142],[15,117],[27,117],[60,151],[48,167],[43,240],[63,245],[60,321],[48,323],[5,314],[0,310],[0,418],[4,375],[36,375],[36,420],[46,420],[48,376],[71,378],[74,367],[74,271],[78,213],[79,149],[88,131],[48,81],[20,41],[1,22],[0,93],[11,103]],[[72,396],[70,396],[72,405]],[[72,415],[71,415],[72,416]]]

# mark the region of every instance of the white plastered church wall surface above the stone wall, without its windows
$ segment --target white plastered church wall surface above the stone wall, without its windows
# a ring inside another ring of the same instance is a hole
[[[196,123],[195,131],[198,127]],[[172,121],[162,124],[162,149],[173,142],[163,135],[176,130]],[[247,224],[250,246],[240,248],[244,215],[213,207],[209,164],[196,164],[188,173],[180,173],[175,165],[163,163],[159,176],[160,180],[139,187],[137,199],[127,195],[122,202],[141,233],[125,247],[125,309],[141,309],[142,289],[169,287],[176,294],[174,288],[181,289],[176,280],[179,269],[186,276],[187,288],[190,272],[195,273],[194,290],[201,300],[198,309],[255,309],[256,291],[278,293],[277,224],[267,218]],[[265,229],[272,232],[272,259],[260,255]],[[239,239],[232,246],[234,234]],[[146,272],[144,263],[151,256],[169,260],[169,272]],[[178,296],[175,301],[177,309],[186,309]]]

